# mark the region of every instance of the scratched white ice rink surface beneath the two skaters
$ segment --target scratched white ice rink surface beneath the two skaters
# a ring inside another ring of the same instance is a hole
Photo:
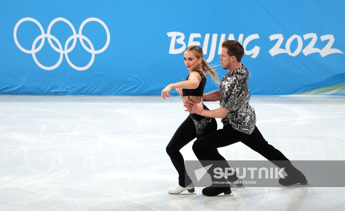
[[[344,210],[345,188],[247,187],[218,198],[196,188],[194,196],[168,195],[178,175],[165,147],[188,115],[181,102],[0,96],[0,211]],[[290,160],[345,159],[345,98],[252,97],[250,104],[265,139]],[[185,160],[197,159],[192,144],[181,149]],[[219,152],[227,160],[265,159],[242,143]]]

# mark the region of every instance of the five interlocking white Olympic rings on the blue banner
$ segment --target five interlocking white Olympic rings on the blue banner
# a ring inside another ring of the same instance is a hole
[[[18,42],[18,40],[17,40],[17,30],[18,30],[18,27],[19,27],[19,25],[20,25],[21,23],[23,23],[24,21],[32,21],[32,22],[36,23],[36,24],[38,25],[38,27],[40,28],[41,33],[42,33],[41,35],[39,35],[39,36],[33,41],[31,50],[27,50],[27,49],[23,48],[23,47],[19,44],[19,42]],[[72,31],[73,31],[73,35],[70,36],[70,37],[67,39],[66,43],[65,43],[65,48],[62,48],[60,41],[59,41],[55,36],[53,36],[53,35],[50,34],[51,27],[54,25],[54,23],[56,23],[56,22],[58,22],[58,21],[63,21],[63,22],[65,22],[65,23],[67,23],[67,24],[71,27],[71,29],[72,29]],[[96,22],[100,23],[100,24],[104,27],[104,29],[106,30],[106,33],[107,33],[107,42],[106,42],[106,44],[105,44],[101,49],[99,49],[99,50],[95,50],[95,48],[93,47],[91,41],[90,41],[86,36],[84,36],[84,35],[81,34],[81,33],[82,33],[82,30],[83,30],[83,27],[85,26],[85,24],[88,23],[88,22],[90,22],[90,21],[96,21]],[[20,19],[20,20],[17,22],[16,26],[14,26],[13,37],[14,37],[14,42],[16,42],[17,47],[18,47],[22,52],[24,52],[24,53],[32,54],[32,58],[33,58],[33,60],[35,61],[35,63],[36,63],[40,68],[45,69],[45,70],[53,70],[53,69],[57,68],[57,67],[61,64],[61,62],[62,62],[63,54],[65,54],[66,60],[67,60],[68,64],[69,64],[72,68],[74,68],[74,69],[76,69],[76,70],[86,70],[86,69],[88,69],[88,68],[92,65],[93,60],[95,59],[95,54],[100,54],[100,53],[102,53],[103,51],[105,51],[105,50],[107,49],[108,45],[109,45],[109,42],[110,42],[110,33],[109,33],[109,29],[108,29],[107,25],[106,25],[103,21],[101,21],[100,19],[98,19],[98,18],[88,18],[88,19],[86,19],[85,21],[83,21],[83,22],[81,23],[80,27],[79,27],[79,34],[76,33],[76,29],[75,29],[74,26],[71,24],[71,22],[69,22],[69,21],[68,21],[67,19],[65,19],[65,18],[56,18],[56,19],[52,20],[52,21],[50,22],[49,26],[48,26],[47,34],[44,33],[44,30],[43,30],[42,25],[41,25],[37,20],[35,20],[35,19],[33,19],[33,18],[22,18],[22,19]],[[47,39],[48,39],[48,42],[49,42],[50,46],[51,46],[56,52],[60,53],[60,58],[59,58],[58,62],[57,62],[55,65],[50,66],[50,67],[43,66],[41,63],[39,63],[38,60],[37,60],[37,58],[36,58],[36,55],[35,55],[35,54],[36,54],[37,52],[39,52],[39,51],[41,50],[41,48],[43,47],[43,44],[44,44],[44,42],[45,42],[45,38],[46,38],[46,37],[47,37]],[[91,60],[90,60],[89,64],[87,64],[87,65],[84,66],[84,67],[77,67],[77,66],[73,65],[72,62],[71,62],[71,61],[69,60],[69,58],[68,58],[68,53],[70,53],[70,52],[74,49],[74,47],[76,46],[77,38],[79,38],[79,41],[80,41],[81,45],[83,46],[83,48],[84,48],[87,52],[91,53]],[[41,40],[41,39],[42,39],[41,44],[40,44],[37,48],[35,48],[37,42],[38,42],[39,40]],[[53,40],[58,44],[58,48],[52,43],[51,39],[53,39]],[[68,47],[68,44],[71,42],[71,40],[73,40],[72,46],[69,47],[69,48],[67,48],[67,47]],[[85,40],[85,41],[89,44],[89,46],[90,46],[91,49],[88,48],[88,47],[85,45],[85,43],[84,43],[83,40]]]

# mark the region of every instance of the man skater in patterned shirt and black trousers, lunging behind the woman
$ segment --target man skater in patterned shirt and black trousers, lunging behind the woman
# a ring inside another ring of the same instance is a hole
[[[297,170],[278,149],[264,139],[255,126],[254,108],[249,105],[248,70],[241,64],[244,55],[243,46],[234,40],[225,40],[220,56],[223,69],[229,69],[220,82],[220,90],[204,94],[203,101],[220,101],[220,107],[215,110],[204,110],[202,101],[185,103],[186,111],[192,111],[210,118],[222,118],[223,129],[208,134],[196,140],[193,151],[199,160],[215,160],[218,147],[242,142],[279,168],[285,167],[288,176],[280,178],[279,184],[290,186],[296,183],[306,185],[305,176]],[[223,168],[224,169],[224,168]],[[229,180],[230,181],[230,180]],[[227,187],[206,187],[205,196],[217,196],[222,192],[229,193]],[[231,193],[231,191],[230,191]]]

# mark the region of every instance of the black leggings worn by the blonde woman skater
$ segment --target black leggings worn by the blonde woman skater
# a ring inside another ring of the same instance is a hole
[[[209,110],[205,105],[204,109]],[[178,127],[175,134],[172,136],[166,147],[166,151],[178,172],[178,183],[180,186],[186,187],[192,182],[189,177],[185,178],[185,174],[187,175],[185,160],[180,153],[180,149],[194,138],[201,138],[215,131],[217,131],[217,122],[215,118],[206,118],[198,114],[189,114],[187,119]],[[218,155],[219,160],[224,159],[219,153]]]

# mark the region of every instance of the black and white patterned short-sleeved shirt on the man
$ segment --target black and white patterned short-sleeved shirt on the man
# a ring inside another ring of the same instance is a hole
[[[256,116],[254,108],[249,105],[248,70],[242,65],[225,74],[220,81],[220,106],[229,110],[224,125],[230,124],[235,130],[251,134],[255,129]]]

